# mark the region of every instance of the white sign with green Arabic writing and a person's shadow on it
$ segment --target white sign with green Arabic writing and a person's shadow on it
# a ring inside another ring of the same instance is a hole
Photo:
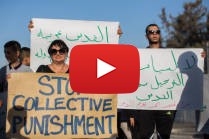
[[[200,109],[203,97],[202,49],[139,49],[140,85],[118,95],[118,108]]]

